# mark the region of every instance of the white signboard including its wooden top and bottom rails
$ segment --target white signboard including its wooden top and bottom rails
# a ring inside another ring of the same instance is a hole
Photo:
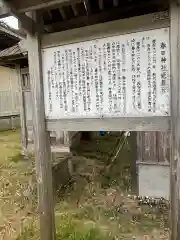
[[[169,130],[169,19],[159,15],[42,37],[49,131]]]

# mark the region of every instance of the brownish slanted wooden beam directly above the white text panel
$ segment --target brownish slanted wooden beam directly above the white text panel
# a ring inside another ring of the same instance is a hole
[[[157,20],[160,15],[164,16],[164,19],[162,17],[161,20]],[[166,12],[147,14],[145,16],[100,23],[57,33],[44,34],[42,36],[42,48],[164,27],[169,27],[169,17]]]

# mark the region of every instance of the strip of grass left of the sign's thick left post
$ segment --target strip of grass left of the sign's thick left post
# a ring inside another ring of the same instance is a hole
[[[15,239],[33,221],[33,161],[24,161],[19,131],[0,132],[0,239]],[[27,177],[28,173],[28,177]]]

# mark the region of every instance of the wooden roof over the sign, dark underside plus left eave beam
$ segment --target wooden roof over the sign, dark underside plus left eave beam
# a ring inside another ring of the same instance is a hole
[[[0,0],[0,17],[13,14],[25,22],[24,13],[40,10],[45,31],[56,32],[168,9],[168,0]]]

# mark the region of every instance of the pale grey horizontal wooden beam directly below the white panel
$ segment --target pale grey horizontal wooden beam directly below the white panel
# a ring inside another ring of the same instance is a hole
[[[71,119],[49,120],[48,131],[160,131],[167,132],[170,129],[169,117],[135,117],[135,118],[107,118],[107,119]]]

